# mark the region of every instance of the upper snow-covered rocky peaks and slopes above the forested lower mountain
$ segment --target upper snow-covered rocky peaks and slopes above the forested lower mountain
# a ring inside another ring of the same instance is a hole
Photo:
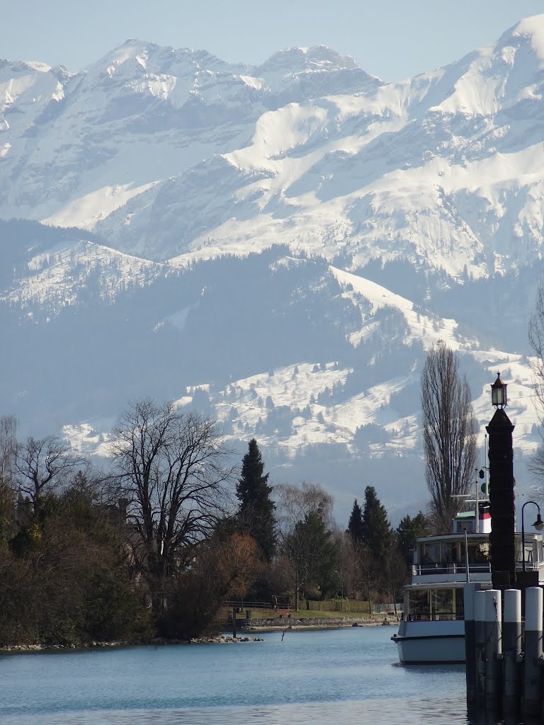
[[[1,68],[0,215],[155,260],[278,241],[486,276],[540,259],[544,15],[383,85],[321,46],[260,67],[127,41]],[[4,184],[2,185],[2,181]]]

